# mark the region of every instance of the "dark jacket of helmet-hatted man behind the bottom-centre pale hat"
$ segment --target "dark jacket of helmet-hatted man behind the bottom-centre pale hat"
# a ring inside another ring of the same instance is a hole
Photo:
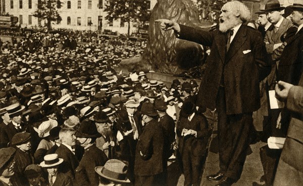
[[[104,166],[107,160],[106,154],[95,145],[88,147],[79,166],[76,168],[74,185],[97,186],[99,184],[99,176],[95,172],[94,167]]]

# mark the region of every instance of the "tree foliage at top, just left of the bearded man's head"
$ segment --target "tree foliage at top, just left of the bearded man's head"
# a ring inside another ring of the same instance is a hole
[[[221,8],[229,1],[230,0],[197,0],[196,4],[202,19],[218,22]]]

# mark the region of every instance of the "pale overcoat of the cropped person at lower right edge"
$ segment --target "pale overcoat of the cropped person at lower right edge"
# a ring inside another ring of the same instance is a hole
[[[303,51],[301,51],[301,60]],[[303,75],[298,86],[293,86],[288,93],[287,109],[292,118],[289,123],[287,137],[282,149],[274,186],[301,185],[303,178]]]

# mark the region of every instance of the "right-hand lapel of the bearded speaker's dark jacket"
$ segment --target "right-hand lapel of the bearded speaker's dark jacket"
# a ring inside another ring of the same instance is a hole
[[[229,59],[239,50],[239,48],[244,44],[246,41],[246,32],[247,29],[241,25],[239,28],[238,32],[236,33],[235,37],[233,38],[232,42],[230,43],[229,50],[227,51],[226,54],[226,61],[229,61]]]

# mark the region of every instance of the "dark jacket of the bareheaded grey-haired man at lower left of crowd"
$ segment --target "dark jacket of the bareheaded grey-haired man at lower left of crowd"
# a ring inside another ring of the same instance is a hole
[[[76,151],[76,150],[75,150]],[[77,152],[75,152],[76,154]],[[67,173],[72,179],[75,178],[75,169],[79,165],[79,160],[76,155],[73,154],[65,145],[61,144],[56,150],[59,158],[62,158],[64,161],[60,165],[60,170],[63,173]]]

